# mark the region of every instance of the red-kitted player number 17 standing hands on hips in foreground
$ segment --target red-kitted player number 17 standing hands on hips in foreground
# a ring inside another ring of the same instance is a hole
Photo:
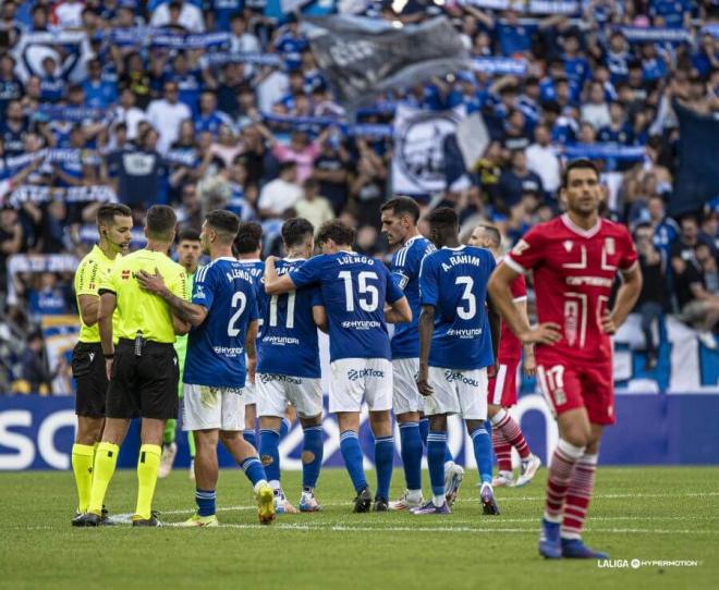
[[[614,422],[609,336],[642,288],[637,255],[623,225],[599,218],[597,168],[575,160],[564,171],[560,198],[566,213],[532,229],[489,281],[504,321],[523,343],[537,343],[537,374],[557,415],[559,444],[547,479],[539,553],[545,557],[606,558],[582,542],[597,469],[599,440]],[[510,285],[533,272],[539,325],[532,330],[512,304]],[[613,309],[617,272],[623,284]]]

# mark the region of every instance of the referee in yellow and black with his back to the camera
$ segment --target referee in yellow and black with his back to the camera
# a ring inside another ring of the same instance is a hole
[[[133,526],[156,527],[160,524],[151,505],[160,466],[162,431],[166,421],[178,415],[179,371],[172,344],[175,334],[187,333],[190,324],[174,317],[170,306],[160,297],[143,291],[136,275],[142,270],[160,272],[174,295],[187,298],[185,269],[168,257],[176,222],[171,207],[150,207],[145,222],[147,246],[119,260],[100,284],[100,340],[110,386],[89,506],[86,514],[75,519],[77,526],[101,524],[102,501],[114,474],[120,445],[131,418],[137,416],[142,417],[142,446]],[[117,348],[112,327],[115,308],[119,312]]]

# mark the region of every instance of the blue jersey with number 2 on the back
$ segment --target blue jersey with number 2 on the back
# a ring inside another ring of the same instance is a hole
[[[252,274],[234,258],[217,258],[195,274],[192,303],[208,314],[190,331],[184,382],[244,388],[245,336],[258,318]]]

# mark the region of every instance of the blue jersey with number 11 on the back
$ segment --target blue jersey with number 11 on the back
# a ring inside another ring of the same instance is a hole
[[[278,260],[275,268],[281,276],[304,261],[287,258]],[[272,296],[260,290],[263,335],[257,342],[257,372],[320,378],[317,325],[312,315],[315,305],[322,305],[316,286]]]

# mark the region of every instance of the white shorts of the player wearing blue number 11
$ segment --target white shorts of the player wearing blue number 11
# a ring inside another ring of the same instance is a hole
[[[314,418],[322,413],[321,379],[288,374],[257,373],[257,416],[283,417],[288,402],[301,418]]]

